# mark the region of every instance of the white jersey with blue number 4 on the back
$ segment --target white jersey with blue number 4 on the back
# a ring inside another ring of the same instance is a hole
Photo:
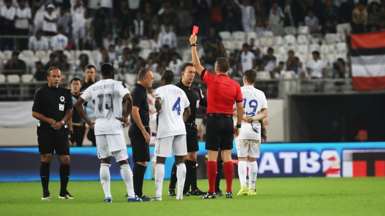
[[[186,93],[174,85],[159,87],[155,93],[155,98],[161,98],[162,100],[162,110],[159,111],[156,138],[186,135],[183,112],[184,108],[190,105]]]

